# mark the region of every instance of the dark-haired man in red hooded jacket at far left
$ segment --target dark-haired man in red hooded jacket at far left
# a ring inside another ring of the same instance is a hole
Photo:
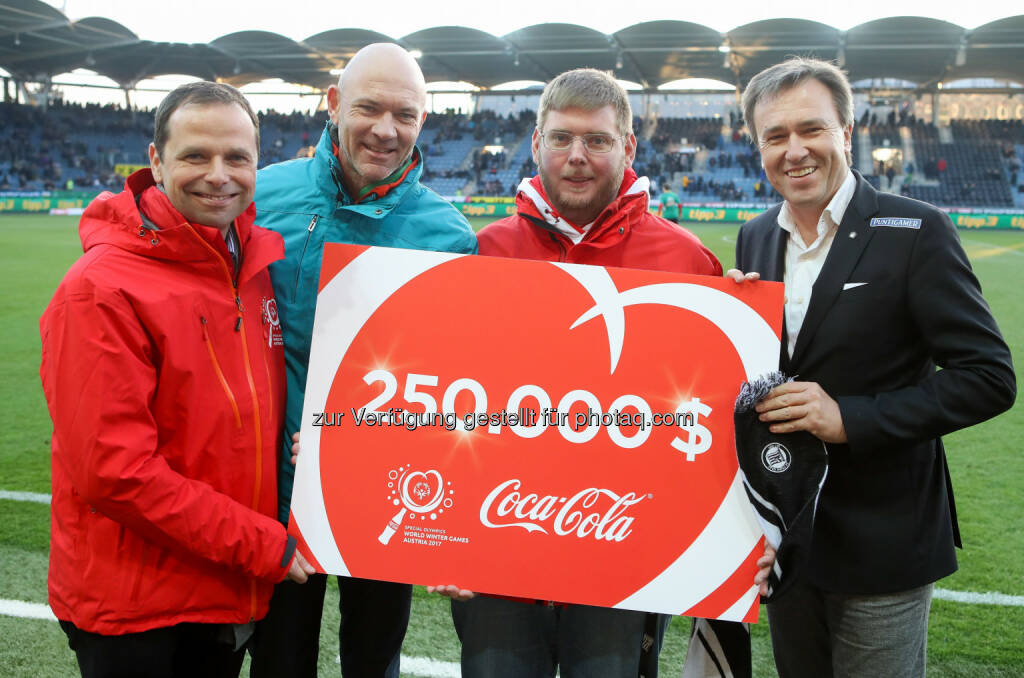
[[[259,129],[233,87],[175,89],[151,169],[82,216],[40,321],[53,420],[49,602],[84,677],[237,676],[273,584],[285,369],[253,225]]]

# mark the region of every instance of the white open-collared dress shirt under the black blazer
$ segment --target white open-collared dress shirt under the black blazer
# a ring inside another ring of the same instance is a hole
[[[790,211],[790,204],[782,203],[782,209],[778,213],[778,225],[790,234],[785,244],[785,276],[782,282],[785,283],[785,333],[791,357],[807,314],[807,306],[811,303],[811,288],[825,264],[828,250],[836,239],[836,230],[843,221],[843,215],[856,187],[857,180],[853,172],[847,170],[846,178],[818,219],[818,236],[810,245],[804,243]]]

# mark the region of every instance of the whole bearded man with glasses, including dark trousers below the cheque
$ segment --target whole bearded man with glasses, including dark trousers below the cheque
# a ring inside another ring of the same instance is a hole
[[[649,181],[632,169],[629,97],[611,75],[579,69],[552,80],[541,96],[532,153],[538,176],[519,185],[514,216],[477,234],[480,254],[722,274],[696,236],[650,213]],[[636,678],[644,644],[653,644],[644,664],[656,671],[664,616],[655,630],[653,618],[635,610],[436,589],[454,598],[466,678],[542,678],[556,667],[562,676]],[[653,636],[647,643],[645,626]]]

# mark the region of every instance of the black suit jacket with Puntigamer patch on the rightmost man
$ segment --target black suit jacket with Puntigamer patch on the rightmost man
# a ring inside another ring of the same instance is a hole
[[[780,365],[839,402],[849,440],[827,446],[805,577],[828,591],[887,593],[956,569],[959,534],[939,436],[1009,409],[1016,382],[949,217],[855,176],[792,356],[783,333]],[[782,281],[780,209],[739,229],[737,268]],[[872,225],[874,217],[920,226]],[[865,285],[844,289],[854,283]]]

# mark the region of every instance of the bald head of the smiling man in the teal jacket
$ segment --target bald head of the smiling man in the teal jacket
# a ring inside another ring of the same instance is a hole
[[[427,117],[427,86],[420,65],[391,43],[367,45],[327,92],[338,126],[338,161],[349,196],[379,183],[413,154]]]

